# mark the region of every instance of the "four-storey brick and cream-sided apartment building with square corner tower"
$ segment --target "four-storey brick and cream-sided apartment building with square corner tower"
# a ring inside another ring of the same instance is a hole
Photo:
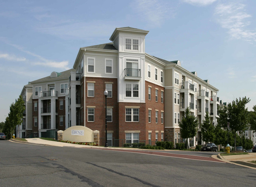
[[[145,53],[148,32],[116,28],[110,43],[81,47],[73,69],[31,82],[34,135],[83,125],[100,131],[100,145],[104,145],[105,89],[109,146],[181,142],[178,122],[186,107],[199,123],[206,112],[216,121],[218,89],[199,78],[197,72],[184,69],[179,60],[167,61]],[[56,109],[60,103],[62,111]],[[35,111],[36,106],[41,111]],[[192,145],[200,139],[199,125]]]

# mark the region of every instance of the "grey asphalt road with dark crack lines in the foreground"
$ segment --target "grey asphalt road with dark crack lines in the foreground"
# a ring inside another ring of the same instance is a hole
[[[209,157],[211,153],[178,154]],[[0,141],[0,187],[255,186],[255,182],[256,170],[230,163]]]

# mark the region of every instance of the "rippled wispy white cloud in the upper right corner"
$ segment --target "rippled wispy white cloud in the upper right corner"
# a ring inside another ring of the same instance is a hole
[[[228,29],[231,38],[256,41],[256,30],[247,29],[251,24],[248,19],[252,16],[246,13],[244,4],[219,4],[215,8],[215,15],[221,27]]]

